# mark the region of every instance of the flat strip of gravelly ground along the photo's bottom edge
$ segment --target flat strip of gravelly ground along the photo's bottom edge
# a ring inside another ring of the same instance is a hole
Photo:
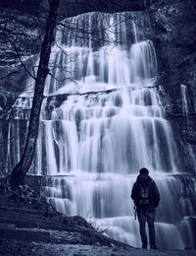
[[[3,240],[0,242],[0,254],[11,255],[47,255],[47,256],[195,256],[195,251],[159,251],[131,248],[130,246],[101,246],[82,244],[55,244],[41,242],[19,242]]]

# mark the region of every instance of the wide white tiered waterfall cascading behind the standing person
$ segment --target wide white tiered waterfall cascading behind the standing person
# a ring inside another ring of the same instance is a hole
[[[140,40],[136,18],[147,20],[90,13],[66,20],[73,30],[57,32],[51,55],[56,79],[46,82],[35,174],[46,175],[42,193],[59,211],[90,218],[109,236],[140,246],[129,195],[146,166],[161,193],[158,246],[194,247],[196,182],[180,174],[155,87],[155,49]]]

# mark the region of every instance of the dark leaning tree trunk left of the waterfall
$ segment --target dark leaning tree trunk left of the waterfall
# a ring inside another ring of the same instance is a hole
[[[9,183],[11,186],[18,186],[24,183],[25,173],[30,167],[35,152],[44,84],[49,71],[48,62],[50,59],[51,45],[54,41],[54,31],[60,0],[49,0],[49,3],[50,13],[46,21],[45,35],[42,42],[38,71],[35,79],[34,96],[30,112],[25,150],[21,160],[12,170],[11,176],[9,178]]]

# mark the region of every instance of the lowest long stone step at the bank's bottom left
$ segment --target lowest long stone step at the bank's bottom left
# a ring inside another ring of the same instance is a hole
[[[1,238],[14,239],[18,241],[41,241],[50,242],[50,233],[48,231],[33,229],[17,229],[0,227]]]

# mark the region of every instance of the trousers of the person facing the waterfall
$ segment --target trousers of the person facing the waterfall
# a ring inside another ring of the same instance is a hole
[[[150,238],[150,246],[156,246],[155,242],[155,213],[146,212],[142,210],[137,210],[137,217],[139,221],[141,242],[143,246],[148,245],[147,235],[146,235],[146,222],[148,223],[149,228],[149,238]]]

